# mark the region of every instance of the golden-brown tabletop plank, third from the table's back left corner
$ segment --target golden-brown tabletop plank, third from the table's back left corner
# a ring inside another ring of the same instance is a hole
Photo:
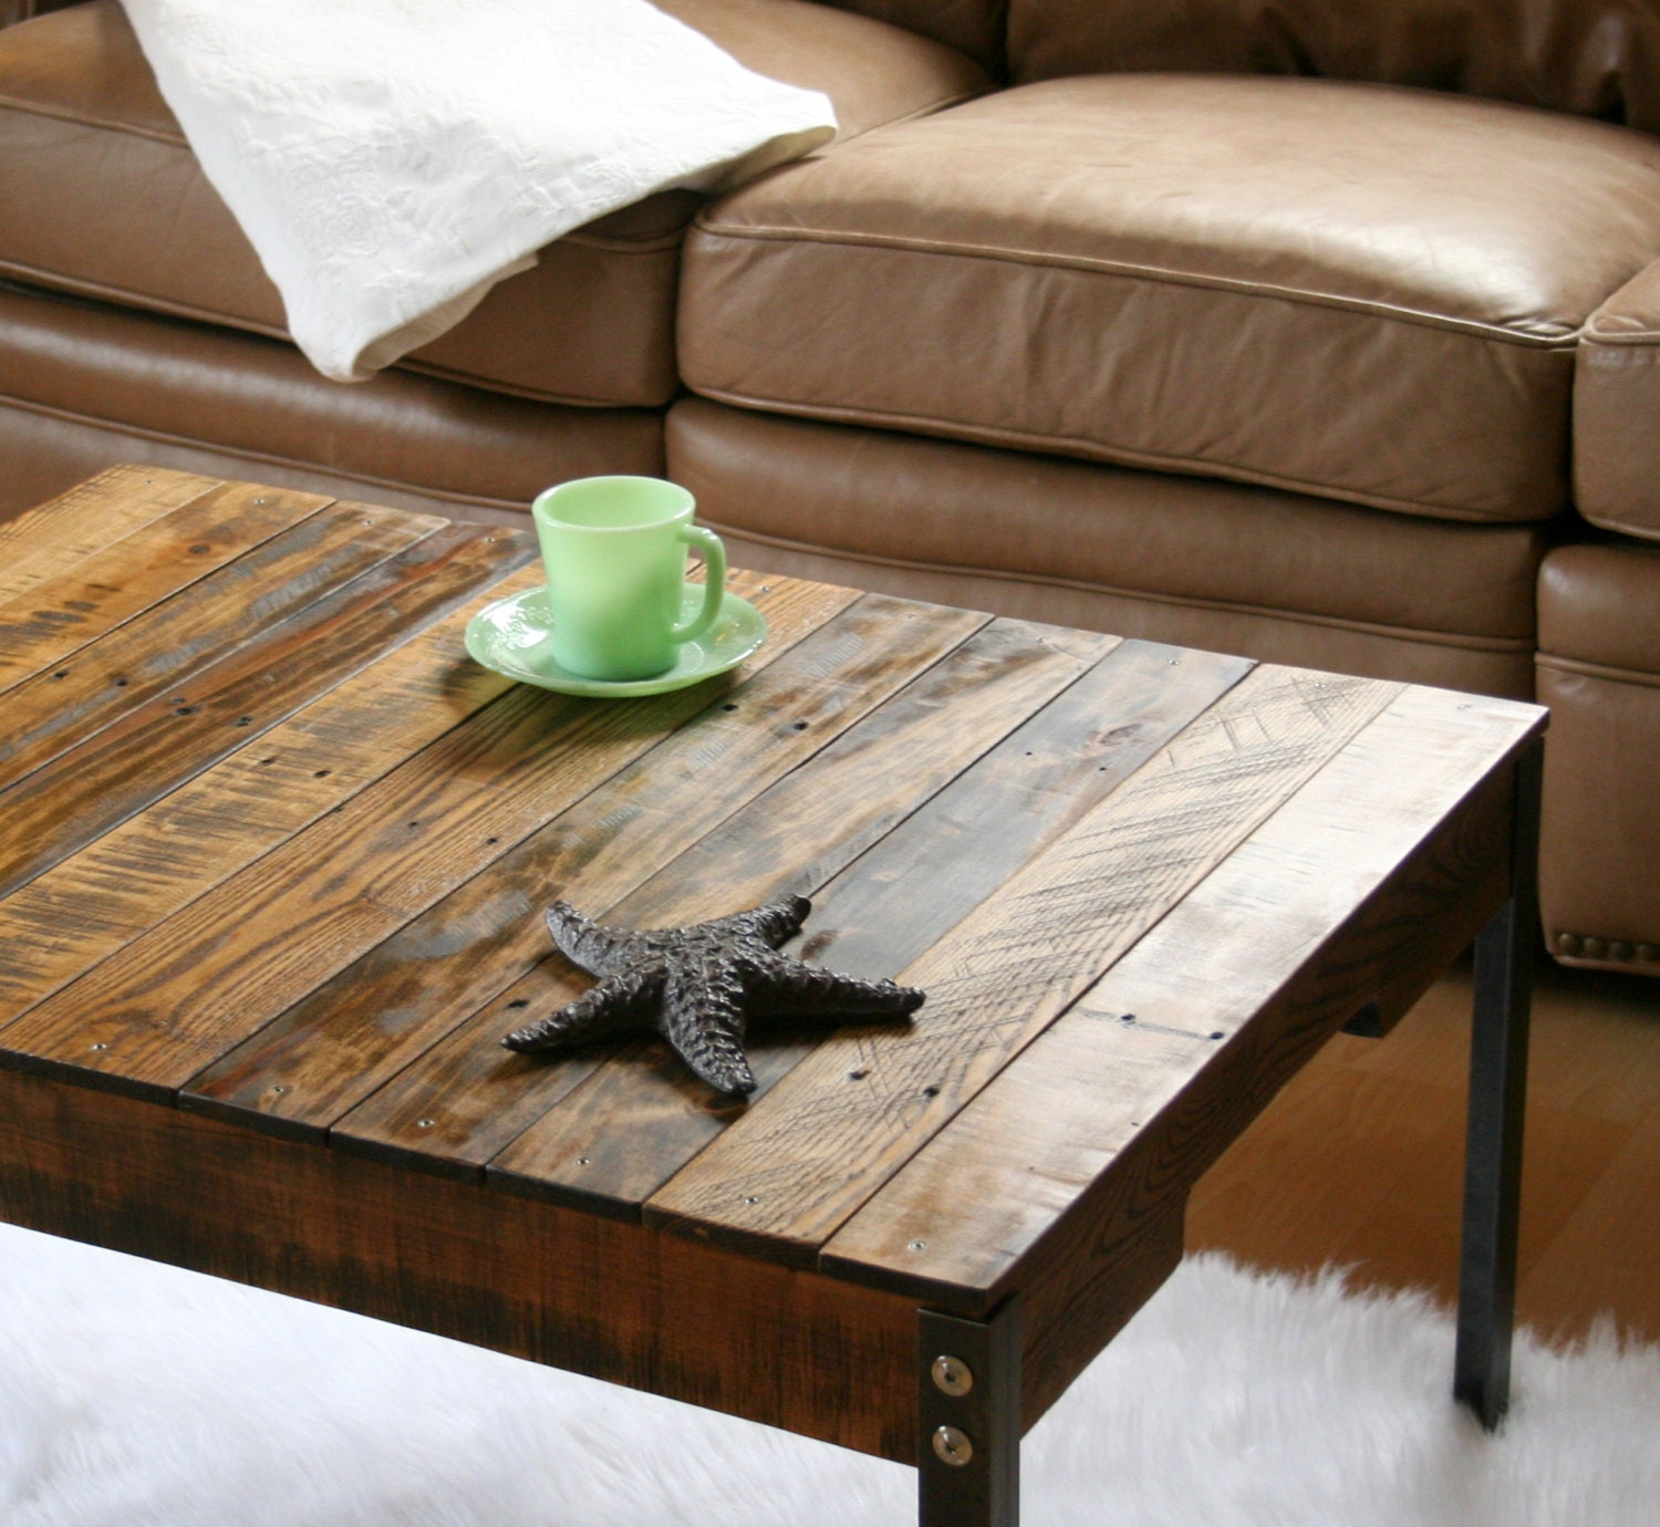
[[[226,513],[242,498],[272,491],[227,488]],[[445,523],[393,510],[325,508],[329,500],[309,493],[281,496],[317,513],[10,690],[0,788]]]

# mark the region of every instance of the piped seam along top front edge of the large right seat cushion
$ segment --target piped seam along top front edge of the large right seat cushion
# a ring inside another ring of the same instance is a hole
[[[827,232],[822,229],[790,229],[774,226],[722,224],[699,216],[697,231],[724,239],[747,239],[757,244],[845,244],[868,249],[895,249],[903,254],[925,254],[941,259],[984,259],[1011,266],[1039,266],[1057,271],[1076,271],[1082,276],[1104,276],[1119,281],[1142,281],[1162,285],[1200,287],[1205,290],[1235,292],[1247,297],[1268,297],[1303,307],[1331,307],[1341,312],[1366,314],[1391,324],[1409,324],[1418,329],[1443,329],[1466,334],[1472,339],[1521,345],[1534,350],[1572,350],[1584,325],[1560,325],[1550,334],[1527,334],[1479,319],[1454,319],[1446,314],[1421,312],[1389,302],[1371,302],[1363,297],[1340,297],[1335,292],[1313,292],[1300,287],[1282,287],[1262,281],[1240,281],[1228,276],[1202,276],[1194,271],[1165,271],[1159,266],[1137,266],[1129,261],[1091,259],[1087,256],[1046,254],[1038,249],[1004,249],[991,244],[940,244],[925,239],[905,239],[896,234]]]

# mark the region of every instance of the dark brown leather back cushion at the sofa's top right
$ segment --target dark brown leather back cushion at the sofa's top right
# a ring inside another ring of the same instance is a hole
[[[1660,0],[1011,0],[1016,80],[1321,75],[1660,131]]]

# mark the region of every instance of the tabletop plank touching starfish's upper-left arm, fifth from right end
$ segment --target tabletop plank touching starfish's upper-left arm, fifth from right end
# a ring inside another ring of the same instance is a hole
[[[770,584],[760,603],[774,634],[742,684],[706,692],[696,720],[193,1077],[181,1104],[322,1130],[551,953],[548,901],[609,905],[822,747],[880,674],[903,682],[981,619],[935,621],[901,657],[890,601],[848,609],[852,591]],[[513,1059],[498,1039],[491,1066]]]

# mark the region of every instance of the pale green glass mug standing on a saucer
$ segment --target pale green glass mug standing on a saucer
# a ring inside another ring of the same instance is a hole
[[[583,679],[649,679],[709,631],[725,589],[720,538],[692,524],[691,493],[662,478],[578,478],[531,505],[548,571],[553,661]],[[696,616],[681,621],[686,553],[704,559]]]

